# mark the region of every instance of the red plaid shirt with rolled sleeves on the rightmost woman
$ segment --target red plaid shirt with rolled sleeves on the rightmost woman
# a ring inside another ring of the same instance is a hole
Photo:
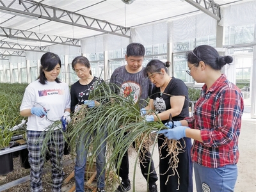
[[[185,118],[189,127],[200,129],[203,140],[193,143],[193,161],[209,168],[237,163],[243,108],[243,95],[224,74],[209,90],[202,87],[193,117]]]

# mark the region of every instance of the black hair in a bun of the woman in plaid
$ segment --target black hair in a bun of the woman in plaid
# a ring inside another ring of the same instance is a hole
[[[233,61],[231,56],[220,56],[218,51],[210,45],[200,45],[195,47],[193,51],[186,53],[186,58],[189,63],[198,67],[200,61],[204,61],[205,65],[211,66],[214,70],[221,70],[221,68],[230,64]]]

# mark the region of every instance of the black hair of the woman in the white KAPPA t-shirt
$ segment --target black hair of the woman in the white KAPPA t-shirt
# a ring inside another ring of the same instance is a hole
[[[60,57],[57,54],[54,54],[53,52],[45,52],[45,54],[43,54],[43,56],[41,57],[40,62],[41,67],[38,79],[41,84],[46,84],[47,79],[45,77],[44,71],[51,71],[58,64],[60,64],[61,67]],[[55,81],[57,83],[61,83],[58,77],[55,79]]]

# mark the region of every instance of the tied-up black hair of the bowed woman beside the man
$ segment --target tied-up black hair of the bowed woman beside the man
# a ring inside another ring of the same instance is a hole
[[[143,70],[144,76],[148,77],[148,73],[160,73],[161,68],[164,68],[165,72],[167,73],[167,67],[170,67],[171,62],[166,61],[165,63],[160,60],[151,60],[148,62],[147,67]]]

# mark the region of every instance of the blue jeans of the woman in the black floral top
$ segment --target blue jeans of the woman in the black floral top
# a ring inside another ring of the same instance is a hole
[[[97,134],[97,130],[93,132],[93,135]],[[106,139],[107,134],[100,138],[100,147],[97,148],[96,154],[96,169],[97,169],[97,188],[105,187],[105,154],[106,154]],[[89,138],[88,138],[89,137]],[[88,145],[92,140],[92,136],[85,134],[78,138],[76,144],[76,165],[75,165],[75,180],[76,180],[76,192],[84,192],[84,173],[86,166],[86,158],[88,154]],[[86,143],[86,141],[88,143]],[[97,147],[97,146],[96,146]]]

